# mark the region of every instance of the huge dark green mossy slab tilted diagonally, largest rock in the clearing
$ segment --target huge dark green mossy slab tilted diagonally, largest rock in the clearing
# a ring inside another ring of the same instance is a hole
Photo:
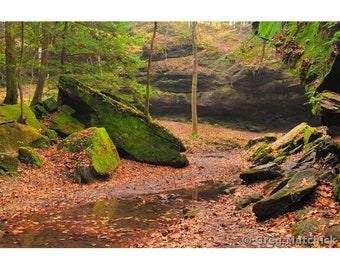
[[[143,113],[121,99],[93,90],[79,81],[61,76],[59,97],[72,107],[86,127],[105,127],[118,150],[136,160],[156,165],[185,167],[180,152],[185,147],[163,127],[148,121]]]

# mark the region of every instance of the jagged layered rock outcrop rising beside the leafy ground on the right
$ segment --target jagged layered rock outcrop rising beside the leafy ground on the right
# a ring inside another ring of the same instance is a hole
[[[300,207],[301,202],[315,190],[319,180],[333,181],[337,198],[340,146],[327,134],[326,127],[315,128],[301,123],[274,142],[256,138],[249,146],[243,157],[257,166],[241,172],[240,178],[247,183],[279,178],[278,184],[270,187],[269,195],[253,206],[259,220],[277,217]],[[301,154],[295,155],[301,151]],[[288,159],[288,156],[292,157]],[[280,166],[278,161],[282,162]]]

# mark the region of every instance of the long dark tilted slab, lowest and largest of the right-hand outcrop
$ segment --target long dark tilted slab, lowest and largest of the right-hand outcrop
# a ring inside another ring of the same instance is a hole
[[[257,218],[265,220],[277,217],[301,202],[318,185],[316,174],[315,169],[294,174],[283,188],[253,206]]]

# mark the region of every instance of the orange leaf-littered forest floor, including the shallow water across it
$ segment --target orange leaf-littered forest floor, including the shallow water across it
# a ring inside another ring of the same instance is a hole
[[[289,241],[296,212],[258,222],[252,204],[235,209],[268,184],[239,179],[246,143],[262,134],[200,124],[193,138],[190,124],[158,122],[184,142],[188,167],[122,159],[108,181],[79,185],[74,160],[55,145],[38,150],[42,168],[20,164],[1,177],[0,247],[304,247]],[[228,186],[234,193],[223,193]],[[318,189],[311,214],[339,213],[331,188]]]

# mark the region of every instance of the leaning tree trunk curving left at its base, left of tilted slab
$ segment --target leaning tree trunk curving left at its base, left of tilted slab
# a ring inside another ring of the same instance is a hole
[[[42,31],[43,31],[43,38],[42,38],[42,52],[41,52],[41,61],[40,61],[40,68],[38,73],[38,82],[37,87],[35,88],[34,96],[31,102],[31,106],[36,105],[42,99],[42,94],[44,90],[45,80],[47,77],[47,64],[48,64],[48,47],[50,45],[50,34],[48,28],[48,22],[42,23]]]

